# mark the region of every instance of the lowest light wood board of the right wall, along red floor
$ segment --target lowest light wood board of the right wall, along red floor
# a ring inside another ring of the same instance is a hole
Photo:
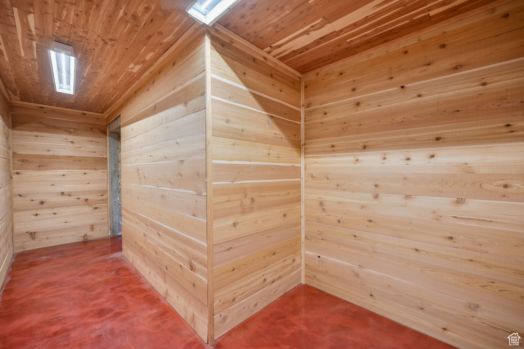
[[[310,267],[307,275],[308,282],[315,287],[329,290],[330,293],[342,296],[344,299],[351,295],[350,297],[354,297],[358,304],[375,312],[377,312],[379,304],[384,303],[385,309],[383,308],[384,310],[378,311],[378,313],[391,312],[391,316],[395,320],[398,319],[396,314],[402,314],[400,322],[404,324],[406,322],[402,320],[411,318],[411,321],[413,321],[415,319],[419,321],[418,325],[411,322],[408,322],[407,325],[424,330],[425,333],[441,340],[450,340],[448,336],[451,333],[452,336],[457,337],[454,342],[461,346],[467,347],[473,344],[474,342],[469,340],[470,337],[483,338],[484,344],[478,347],[498,347],[501,343],[499,336],[505,333],[505,330],[493,323],[492,317],[494,312],[497,313],[496,310],[483,308],[478,311],[478,307],[475,309],[475,306],[472,306],[476,303],[446,296],[439,292],[432,292],[411,283],[375,274],[365,269],[354,268],[351,265],[328,258],[316,258],[315,255],[311,254],[308,254],[307,258]],[[315,258],[320,260],[316,261]],[[325,268],[326,266],[329,266],[329,269]],[[353,274],[350,277],[349,273],[352,271]],[[347,281],[340,282],[338,281],[339,278],[333,278],[334,272],[339,273],[340,276],[345,276],[344,280]],[[386,282],[390,287],[387,289],[377,288],[377,281]],[[341,292],[343,289],[345,291]],[[450,307],[451,304],[455,307]],[[481,314],[478,314],[479,312]],[[468,313],[470,314],[466,315]],[[483,318],[486,317],[485,313],[488,314],[489,319],[474,321],[474,315]],[[468,321],[466,325],[464,319],[473,321]],[[492,334],[485,334],[482,331]]]

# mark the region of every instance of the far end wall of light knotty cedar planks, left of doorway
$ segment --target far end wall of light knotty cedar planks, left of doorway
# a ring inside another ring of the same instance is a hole
[[[106,236],[102,114],[12,105],[15,251]]]

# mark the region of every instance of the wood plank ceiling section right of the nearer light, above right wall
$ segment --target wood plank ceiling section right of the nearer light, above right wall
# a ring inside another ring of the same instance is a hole
[[[300,73],[493,0],[245,0],[219,23]]]

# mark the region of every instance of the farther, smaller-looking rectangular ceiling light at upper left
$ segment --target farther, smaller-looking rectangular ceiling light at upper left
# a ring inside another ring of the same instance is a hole
[[[73,48],[53,41],[48,53],[54,90],[74,94],[74,75],[77,58],[74,57]]]

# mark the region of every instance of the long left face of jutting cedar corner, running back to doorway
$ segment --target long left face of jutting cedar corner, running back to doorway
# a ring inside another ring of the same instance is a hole
[[[123,252],[208,336],[204,31],[193,27],[121,114]]]

